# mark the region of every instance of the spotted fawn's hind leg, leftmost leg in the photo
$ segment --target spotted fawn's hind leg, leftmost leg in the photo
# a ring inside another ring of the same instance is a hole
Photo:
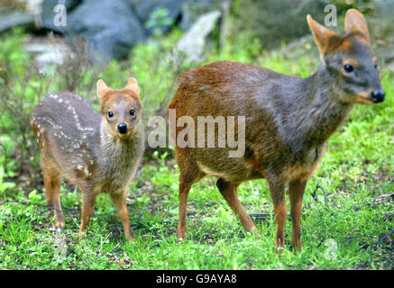
[[[64,228],[63,211],[61,210],[60,203],[60,175],[50,173],[49,171],[42,170],[44,179],[45,195],[47,198],[47,205],[51,206],[55,214],[55,227]]]

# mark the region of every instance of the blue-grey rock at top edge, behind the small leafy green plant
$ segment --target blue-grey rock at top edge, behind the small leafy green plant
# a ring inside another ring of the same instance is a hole
[[[166,16],[167,20],[170,21],[170,24],[161,25],[158,22],[158,27],[162,33],[166,33],[170,31],[171,23],[175,23],[182,13],[182,4],[186,3],[187,0],[129,0],[134,7],[135,13],[142,23],[145,24],[145,29],[147,30],[147,34],[151,34],[154,28],[156,27],[147,27],[149,26],[148,22],[151,14],[155,13],[158,9],[166,9],[168,11],[168,15]],[[148,25],[147,25],[148,24]]]

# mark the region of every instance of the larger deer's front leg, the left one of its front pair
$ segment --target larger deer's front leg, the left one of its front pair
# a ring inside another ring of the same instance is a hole
[[[286,184],[279,179],[267,179],[270,186],[270,196],[273,202],[273,211],[277,225],[275,245],[285,247],[285,222],[287,216],[285,188]]]

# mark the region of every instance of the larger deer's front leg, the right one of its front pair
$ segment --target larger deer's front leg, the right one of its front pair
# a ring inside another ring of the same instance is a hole
[[[291,181],[289,184],[290,215],[293,226],[291,246],[298,251],[301,251],[302,246],[300,221],[302,196],[304,195],[306,185],[307,180],[300,179]]]

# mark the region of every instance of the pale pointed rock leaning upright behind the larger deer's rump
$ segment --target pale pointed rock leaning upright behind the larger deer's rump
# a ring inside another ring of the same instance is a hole
[[[197,22],[178,41],[175,49],[186,55],[189,61],[198,61],[204,54],[206,36],[214,30],[221,13],[213,11],[201,15]]]

